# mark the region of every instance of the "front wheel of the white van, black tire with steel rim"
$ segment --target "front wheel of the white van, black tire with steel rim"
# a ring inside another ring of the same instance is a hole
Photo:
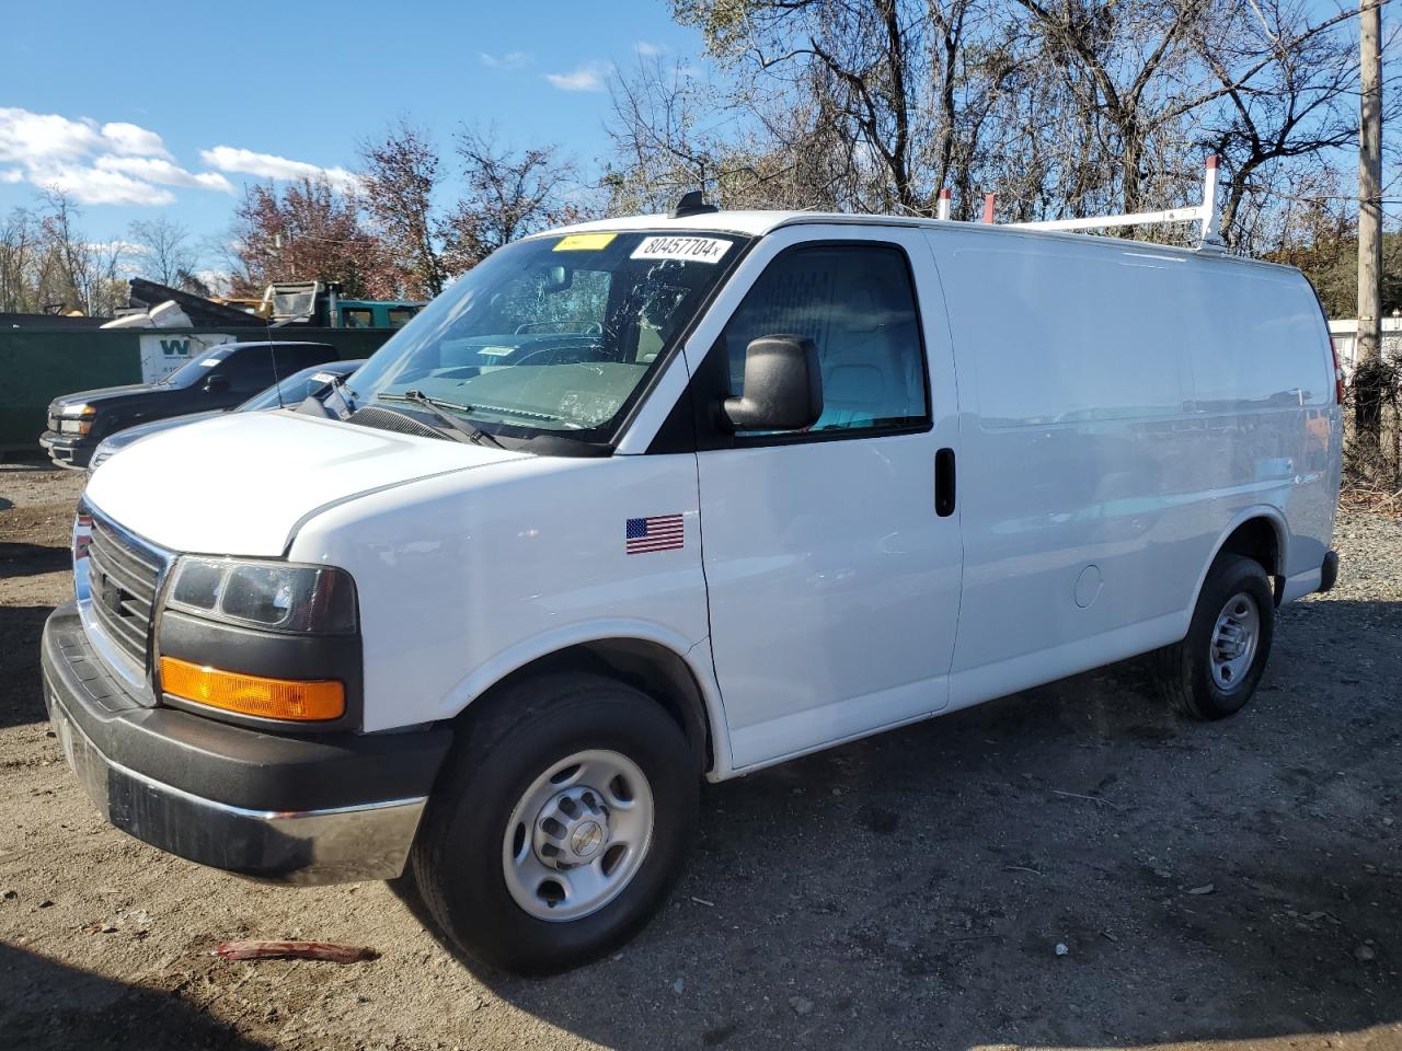
[[[637,933],[695,838],[700,771],[676,722],[601,675],[485,698],[433,790],[412,867],[447,936],[545,974]]]

